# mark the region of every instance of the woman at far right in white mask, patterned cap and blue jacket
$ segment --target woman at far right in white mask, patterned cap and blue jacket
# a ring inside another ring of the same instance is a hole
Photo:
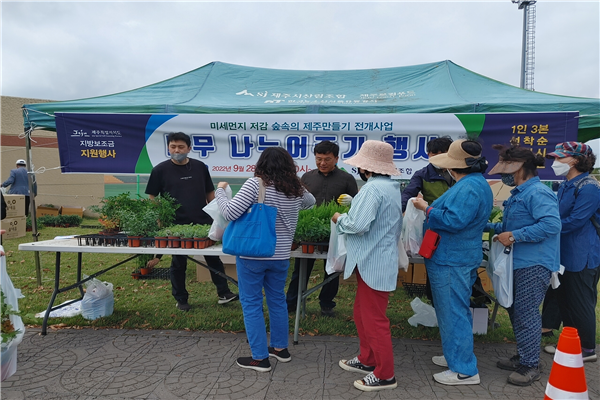
[[[589,174],[596,156],[586,144],[564,142],[547,157],[554,158],[554,173],[566,177],[558,188],[560,263],[565,267],[556,289],[560,316],[563,326],[577,329],[583,361],[594,362],[598,358],[595,308],[600,276],[600,184]]]

